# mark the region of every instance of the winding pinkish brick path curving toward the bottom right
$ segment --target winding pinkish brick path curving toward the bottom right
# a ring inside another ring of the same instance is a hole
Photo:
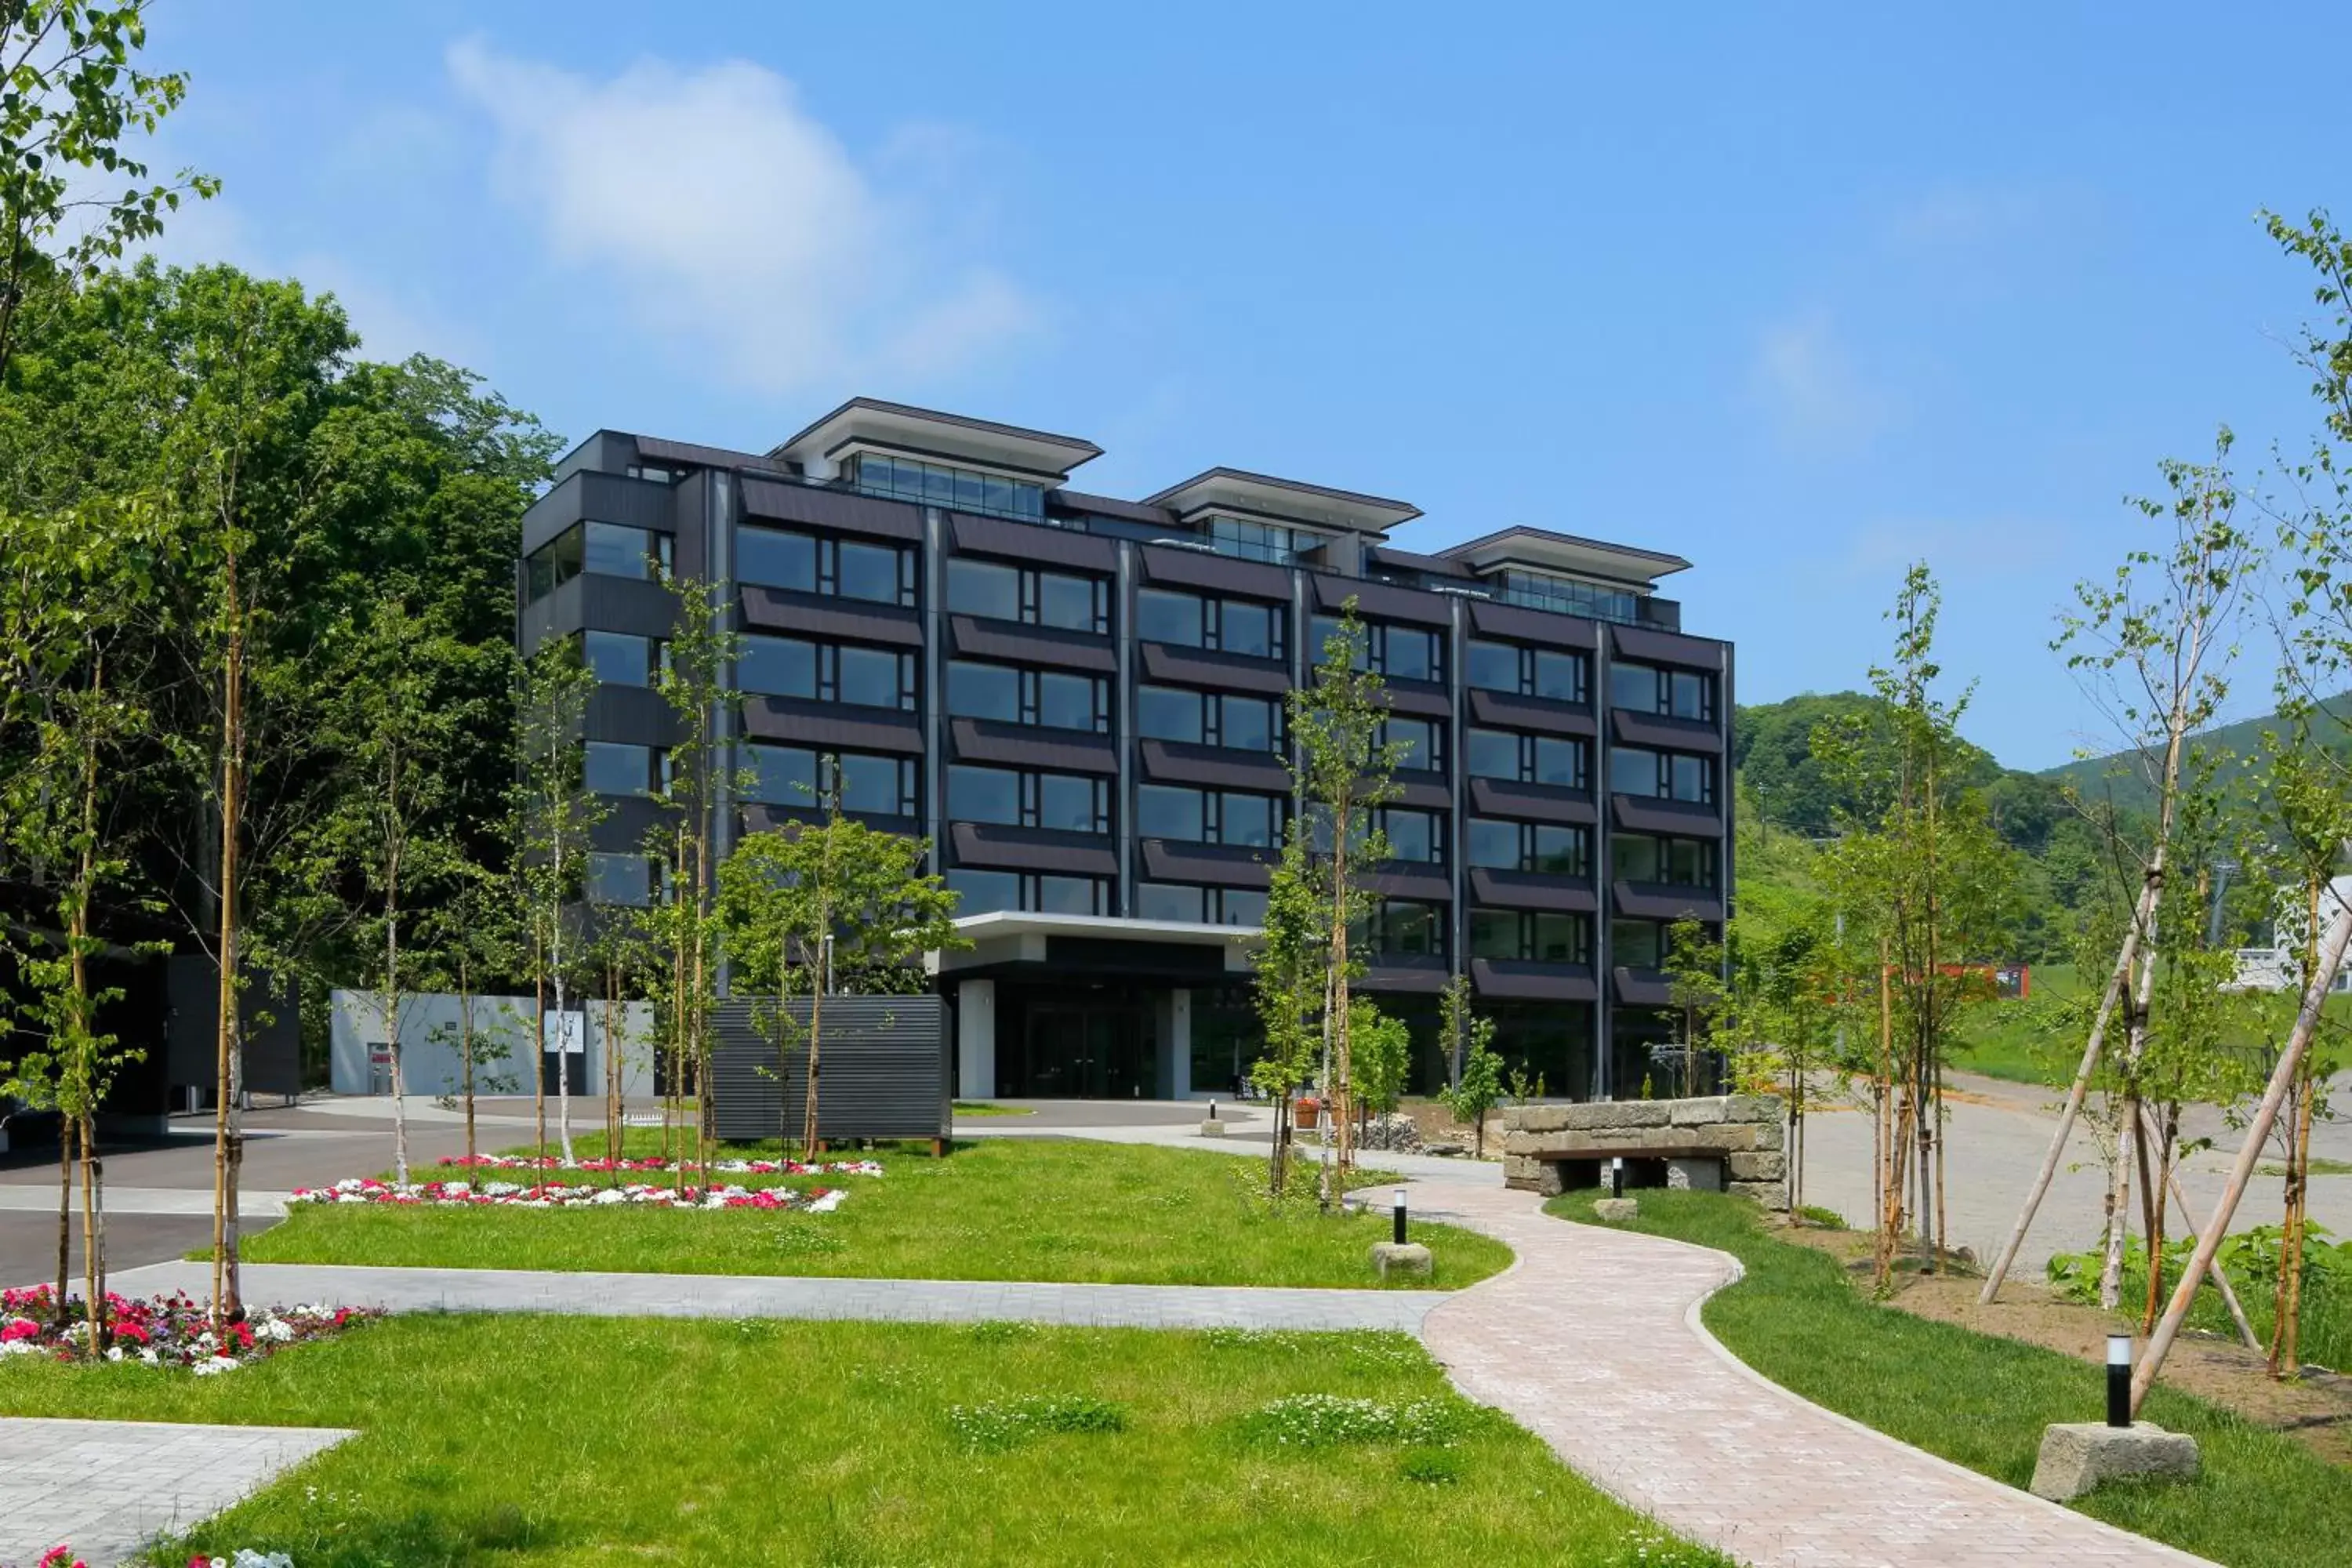
[[[1806,1403],[1698,1324],[1726,1253],[1569,1225],[1526,1192],[1428,1192],[1519,1262],[1421,1328],[1454,1382],[1670,1530],[1757,1568],[2114,1568],[2159,1547]]]

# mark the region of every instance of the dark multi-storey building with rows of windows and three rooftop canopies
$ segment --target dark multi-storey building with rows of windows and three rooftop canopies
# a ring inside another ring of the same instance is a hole
[[[1098,454],[866,397],[769,454],[572,451],[524,515],[520,639],[579,637],[600,675],[590,896],[654,879],[661,567],[727,583],[753,783],[722,832],[837,792],[931,839],[971,940],[934,961],[957,1091],[1230,1093],[1294,809],[1284,693],[1352,599],[1411,748],[1359,990],[1409,1020],[1414,1088],[1470,973],[1545,1093],[1642,1093],[1665,931],[1731,903],[1731,646],[1656,595],[1689,562],[1526,527],[1411,555],[1402,501],[1230,468],[1120,501],[1070,482]]]

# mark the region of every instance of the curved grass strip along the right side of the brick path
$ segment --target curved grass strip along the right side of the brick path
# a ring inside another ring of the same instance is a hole
[[[1548,1204],[1592,1218],[1597,1192]],[[2034,1472],[2042,1429],[2100,1420],[2105,1368],[2034,1345],[1882,1307],[1825,1253],[1776,1241],[1740,1199],[1642,1192],[1635,1229],[1717,1246],[1748,1267],[1705,1305],[1733,1354],[1806,1399],[2011,1486]],[[2230,1568],[2345,1561],[2352,1486],[2288,1436],[2157,1387],[2143,1415],[2190,1432],[2204,1476],[2187,1486],[2107,1486],[2077,1507]]]

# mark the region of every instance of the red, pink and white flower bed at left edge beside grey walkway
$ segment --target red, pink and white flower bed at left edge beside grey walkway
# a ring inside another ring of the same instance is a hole
[[[56,1324],[56,1291],[31,1286],[0,1291],[0,1356],[54,1356],[59,1361],[96,1361],[89,1347],[89,1316],[68,1300],[71,1321]],[[106,1361],[143,1366],[186,1366],[198,1375],[226,1373],[270,1356],[287,1345],[325,1340],[353,1324],[383,1316],[362,1307],[261,1307],[245,1321],[212,1331],[212,1312],[186,1293],[129,1298],[106,1293]]]

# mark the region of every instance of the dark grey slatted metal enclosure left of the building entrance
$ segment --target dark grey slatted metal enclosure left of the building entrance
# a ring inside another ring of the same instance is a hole
[[[809,1093],[807,997],[790,1001],[790,1011],[800,1027],[779,1086],[774,1023],[753,1030],[750,1001],[720,1001],[710,1056],[720,1138],[774,1138],[783,1126],[800,1135]],[[948,1117],[948,1004],[941,997],[826,997],[818,1138],[946,1138]]]

